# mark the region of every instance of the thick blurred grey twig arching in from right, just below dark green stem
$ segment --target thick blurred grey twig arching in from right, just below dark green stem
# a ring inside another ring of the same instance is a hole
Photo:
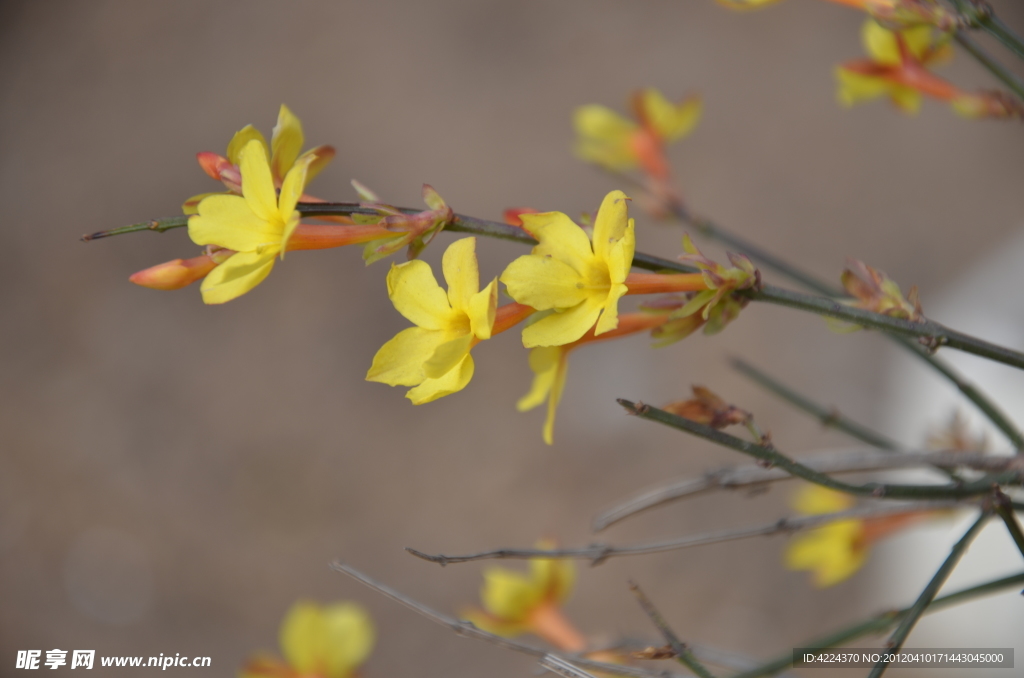
[[[797,461],[820,473],[860,473],[918,466],[1001,471],[1024,464],[1020,457],[991,457],[981,453],[908,452],[893,455],[874,449],[851,450],[840,455],[826,454]],[[792,480],[793,477],[780,468],[764,468],[756,464],[708,471],[700,477],[676,480],[630,497],[595,516],[593,528],[600,532],[641,511],[700,493],[715,490],[757,490],[770,482]]]

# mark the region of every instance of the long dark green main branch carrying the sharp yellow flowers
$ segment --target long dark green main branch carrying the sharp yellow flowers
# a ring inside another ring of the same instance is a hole
[[[298,209],[303,216],[373,213],[373,210],[360,207],[356,203],[300,203],[298,205]],[[148,224],[143,223],[125,226],[123,228],[115,229],[117,234],[114,231],[100,231],[98,234],[85,236],[84,239],[96,240],[98,238],[106,238],[111,235],[134,232],[138,230],[167,230],[169,228],[181,227],[186,223],[187,218],[174,217],[173,219],[153,221]],[[534,239],[521,228],[497,221],[487,221],[485,219],[476,219],[463,215],[456,215],[452,224],[449,225],[449,229],[460,232],[488,236],[490,238],[511,240],[524,244],[535,242]],[[637,268],[654,271],[695,271],[692,266],[685,265],[678,261],[662,259],[660,257],[645,254],[636,254],[633,258],[633,265]],[[874,313],[868,310],[848,306],[834,299],[801,294],[800,292],[783,290],[782,288],[774,287],[772,285],[765,285],[760,290],[743,290],[741,292],[737,292],[736,294],[745,296],[752,301],[761,301],[780,306],[787,306],[790,308],[797,308],[799,310],[809,311],[818,315],[835,317],[854,325],[860,325],[861,327],[883,330],[906,337],[915,337],[919,338],[919,340],[926,342],[933,348],[938,348],[939,346],[949,346],[969,353],[974,353],[975,355],[987,357],[997,363],[1004,363],[1006,365],[1024,369],[1024,353],[1020,353],[1002,346],[996,346],[987,341],[955,332],[931,321],[921,323],[904,321],[899,317],[892,317],[890,315],[884,315],[882,313]]]

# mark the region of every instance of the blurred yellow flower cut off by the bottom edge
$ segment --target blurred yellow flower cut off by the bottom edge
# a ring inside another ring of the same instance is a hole
[[[260,654],[246,663],[240,678],[347,678],[374,647],[374,625],[351,602],[321,606],[297,602],[281,625],[285,661]]]

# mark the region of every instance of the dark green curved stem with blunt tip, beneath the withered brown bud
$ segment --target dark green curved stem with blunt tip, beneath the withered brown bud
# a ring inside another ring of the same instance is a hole
[[[636,415],[641,419],[647,419],[687,433],[692,433],[712,442],[717,442],[723,447],[754,457],[770,466],[778,466],[791,475],[803,478],[809,482],[858,497],[887,499],[966,499],[990,493],[993,483],[1019,484],[1022,478],[1021,471],[1011,470],[988,475],[971,482],[952,482],[942,485],[905,485],[880,482],[866,482],[862,485],[855,485],[837,480],[829,475],[805,466],[786,457],[774,448],[748,442],[742,438],[737,438],[734,435],[719,431],[711,426],[698,424],[695,421],[658,410],[649,405],[634,404],[623,398],[618,398],[618,404],[626,408],[630,414]]]

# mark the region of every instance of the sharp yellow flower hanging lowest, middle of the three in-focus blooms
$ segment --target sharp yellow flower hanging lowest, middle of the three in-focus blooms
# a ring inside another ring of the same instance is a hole
[[[449,290],[437,285],[430,264],[392,264],[388,297],[399,313],[416,325],[384,344],[367,373],[368,381],[415,386],[406,397],[414,405],[430,402],[466,387],[473,377],[470,349],[490,338],[498,306],[498,281],[482,291],[476,262],[476,239],[449,246],[441,259]]]

